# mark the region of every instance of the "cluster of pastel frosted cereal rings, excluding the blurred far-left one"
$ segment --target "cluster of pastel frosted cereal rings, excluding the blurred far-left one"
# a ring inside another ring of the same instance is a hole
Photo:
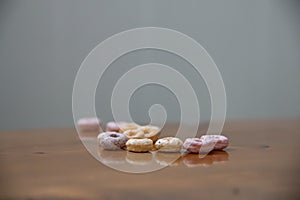
[[[106,132],[98,135],[100,146],[105,150],[125,149],[131,152],[184,152],[203,153],[223,150],[229,145],[223,135],[203,135],[200,138],[186,138],[183,142],[176,137],[158,138],[160,128],[141,126],[136,123],[109,122]]]

